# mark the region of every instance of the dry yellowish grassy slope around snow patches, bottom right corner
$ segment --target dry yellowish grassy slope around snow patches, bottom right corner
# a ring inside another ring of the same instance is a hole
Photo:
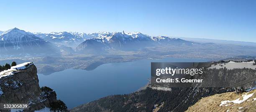
[[[220,106],[221,101],[225,100],[236,100],[240,98],[243,99],[242,95],[246,94],[246,92],[242,94],[236,94],[235,92],[227,92],[223,94],[215,94],[210,97],[205,97],[200,99],[196,104],[190,106],[186,112],[256,112],[256,89],[248,92],[248,94],[253,93],[252,97],[249,97],[246,101],[240,104],[234,104],[230,102],[228,106]],[[253,99],[254,98],[254,99]],[[239,107],[243,107],[242,109],[238,109]]]

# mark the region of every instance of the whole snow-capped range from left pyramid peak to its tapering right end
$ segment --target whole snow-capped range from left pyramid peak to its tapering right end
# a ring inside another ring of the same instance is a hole
[[[1,56],[48,56],[63,51],[77,53],[106,52],[108,49],[137,51],[156,44],[192,44],[179,38],[148,36],[139,32],[51,32],[30,33],[18,28],[0,32]],[[74,49],[74,50],[73,50]]]

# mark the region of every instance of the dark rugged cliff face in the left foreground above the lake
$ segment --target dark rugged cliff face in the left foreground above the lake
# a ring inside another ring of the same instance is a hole
[[[24,112],[50,107],[50,103],[57,100],[56,93],[54,91],[42,92],[38,82],[37,69],[33,64],[8,76],[2,76],[0,78],[0,88],[2,89],[0,102],[27,103],[29,109],[24,109]],[[1,112],[8,111],[10,110],[1,110]]]

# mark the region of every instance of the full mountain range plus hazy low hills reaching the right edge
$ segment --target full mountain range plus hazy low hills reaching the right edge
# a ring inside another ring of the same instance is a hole
[[[0,56],[3,57],[59,56],[63,53],[102,54],[111,51],[143,51],[148,55],[177,54],[194,57],[203,54],[222,58],[256,55],[255,46],[201,43],[176,37],[148,36],[140,32],[30,33],[13,28],[0,33]]]

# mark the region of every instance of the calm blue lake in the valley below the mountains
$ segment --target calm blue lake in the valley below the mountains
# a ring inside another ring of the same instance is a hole
[[[57,98],[73,108],[101,97],[132,93],[150,78],[151,62],[205,62],[205,59],[166,58],[102,64],[91,71],[66,69],[50,75],[38,74],[40,87],[56,91]]]

